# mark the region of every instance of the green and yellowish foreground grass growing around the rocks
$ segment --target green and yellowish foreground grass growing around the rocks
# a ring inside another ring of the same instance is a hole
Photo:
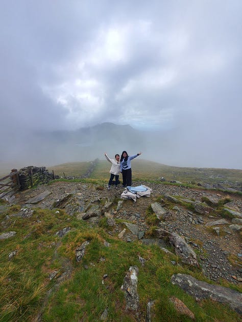
[[[11,206],[0,220],[19,209]],[[111,236],[108,234],[110,227],[106,230],[104,221],[99,227],[90,229],[88,222],[67,216],[63,210],[56,213],[56,209],[37,209],[33,217],[27,219],[12,217],[8,221],[8,231],[17,234],[1,240],[0,321],[32,321],[47,290],[56,283],[55,279],[50,281],[49,274],[53,271],[58,272],[57,277],[63,274],[66,262],[72,266],[71,278],[52,293],[43,312],[43,321],[98,321],[107,307],[108,321],[136,321],[135,314],[125,310],[124,293],[120,290],[131,265],[139,268],[142,320],[147,303],[156,300],[153,321],[190,321],[175,311],[169,301],[171,296],[181,299],[198,321],[239,320],[227,306],[210,301],[199,304],[170,282],[176,273],[206,280],[199,270],[172,265],[171,260],[178,258],[161,252],[157,246],[142,245],[139,241],[126,243],[117,238],[115,231]],[[62,238],[55,236],[64,227],[71,227],[71,231]],[[83,260],[77,263],[75,250],[85,240],[90,240],[90,244]],[[110,247],[104,246],[104,240]],[[17,255],[9,261],[8,254],[13,250],[18,251]],[[146,259],[144,265],[139,262],[138,255]],[[101,257],[105,260],[100,260]],[[104,274],[108,275],[106,279]]]

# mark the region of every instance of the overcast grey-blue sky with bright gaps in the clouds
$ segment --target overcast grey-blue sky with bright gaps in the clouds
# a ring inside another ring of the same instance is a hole
[[[113,122],[171,133],[173,165],[242,169],[241,21],[241,0],[1,0],[2,145]]]

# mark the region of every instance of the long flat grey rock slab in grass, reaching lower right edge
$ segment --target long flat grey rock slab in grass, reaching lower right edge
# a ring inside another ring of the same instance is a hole
[[[242,293],[231,288],[211,285],[185,274],[173,275],[172,283],[180,286],[195,299],[211,299],[216,302],[225,303],[237,313],[242,314]]]

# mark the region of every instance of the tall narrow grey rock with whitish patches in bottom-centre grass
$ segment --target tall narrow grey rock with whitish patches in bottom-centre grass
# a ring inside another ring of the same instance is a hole
[[[137,311],[139,307],[138,272],[137,266],[130,266],[121,286],[121,290],[125,292],[126,310]]]

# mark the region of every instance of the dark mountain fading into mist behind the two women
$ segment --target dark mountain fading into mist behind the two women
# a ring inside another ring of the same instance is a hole
[[[123,150],[127,150],[129,154],[143,151],[146,158],[149,158],[152,156],[151,150],[157,151],[162,144],[159,140],[154,141],[155,137],[152,132],[113,123],[102,123],[73,131],[36,131],[32,135],[19,138],[15,145],[8,146],[9,150],[6,147],[0,164],[10,164],[13,167],[27,164],[52,166],[101,158],[104,152],[110,156],[121,154]]]

